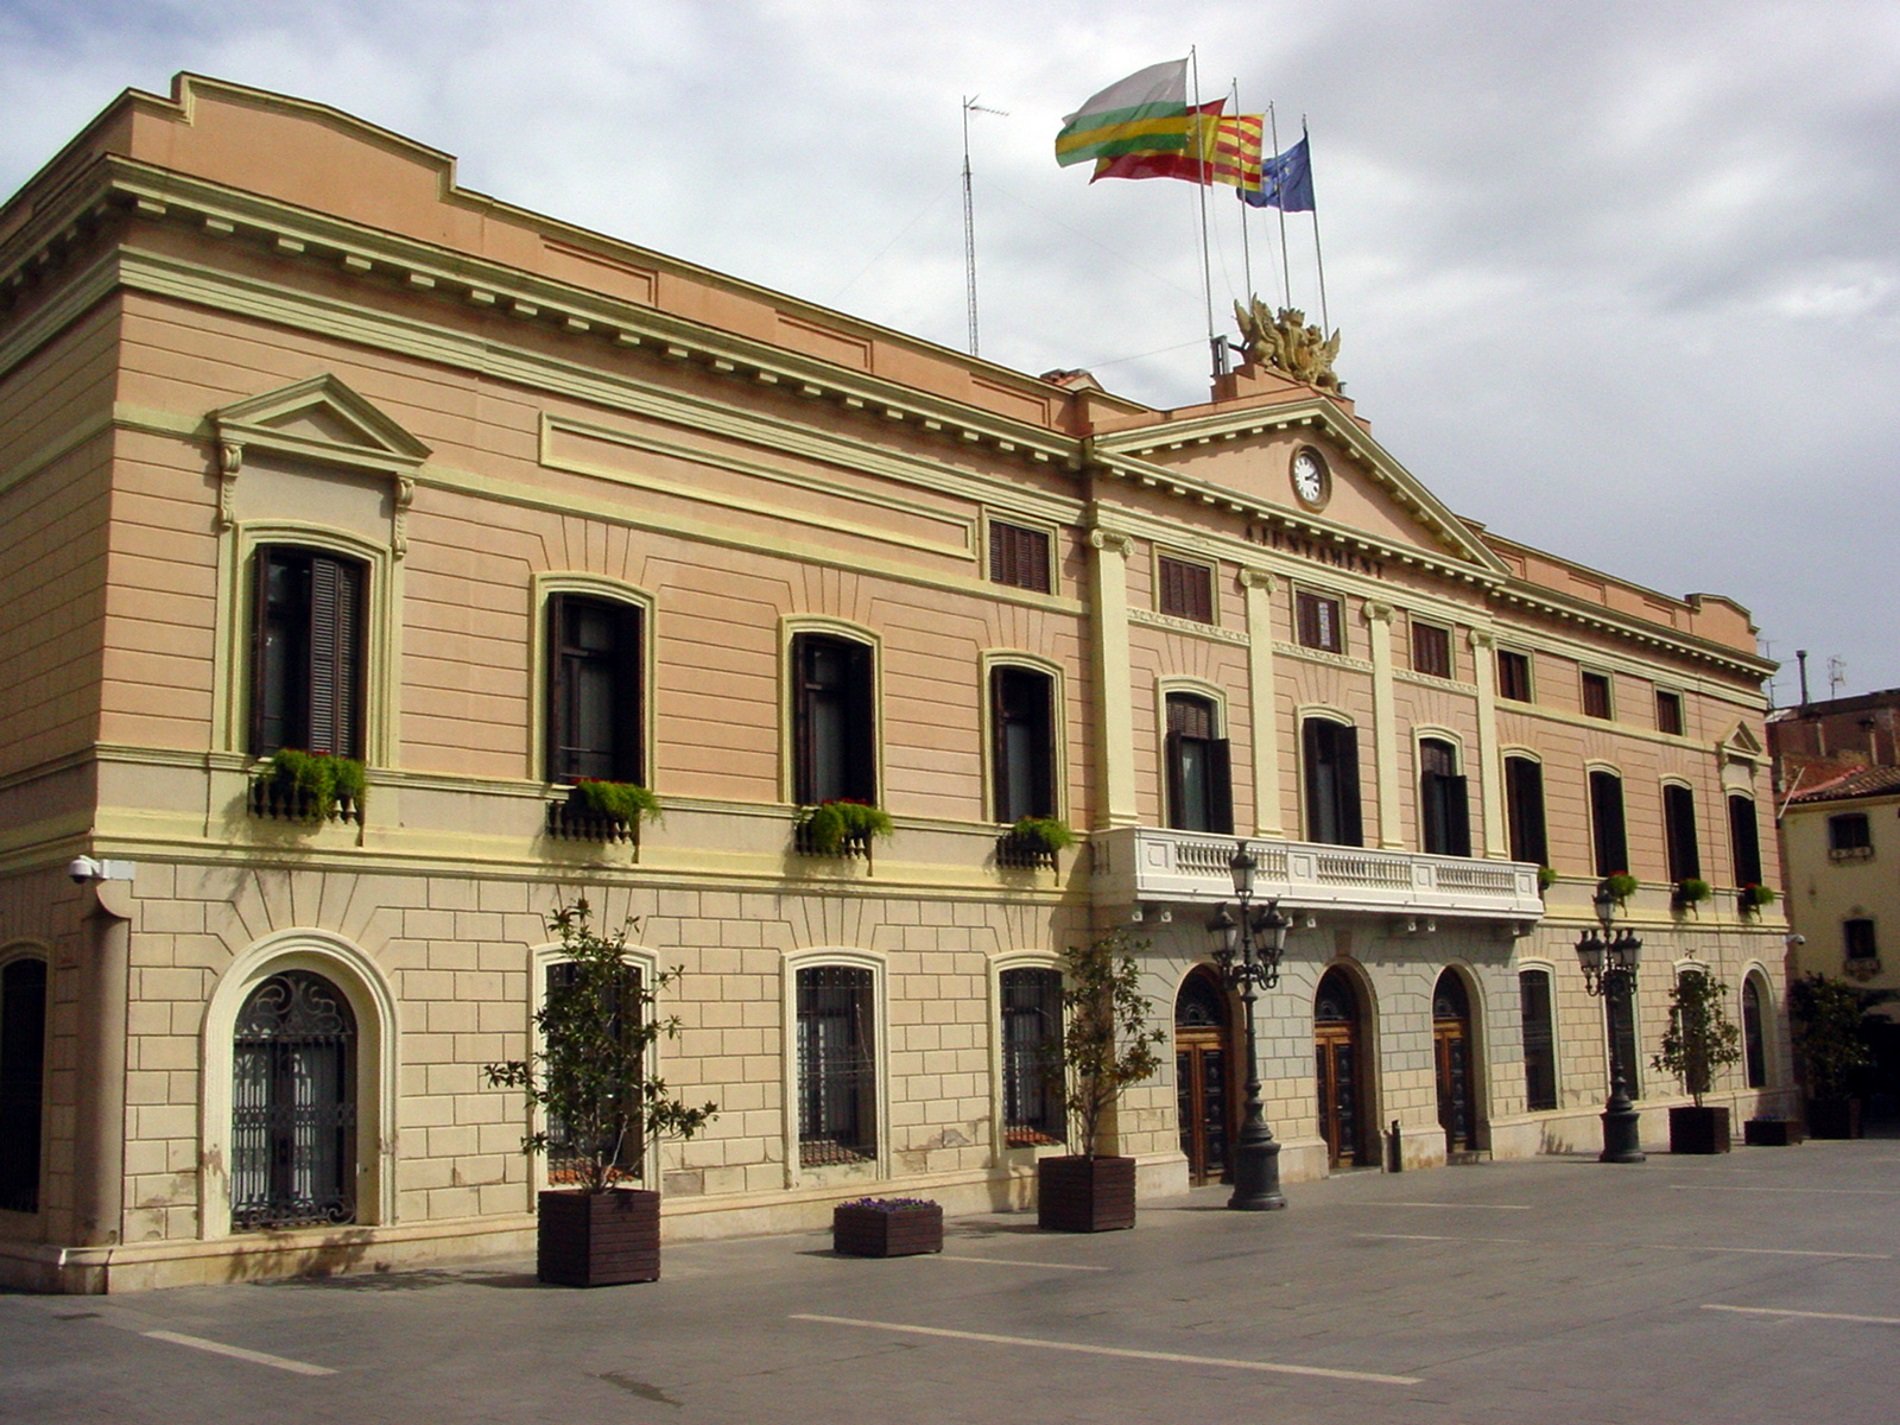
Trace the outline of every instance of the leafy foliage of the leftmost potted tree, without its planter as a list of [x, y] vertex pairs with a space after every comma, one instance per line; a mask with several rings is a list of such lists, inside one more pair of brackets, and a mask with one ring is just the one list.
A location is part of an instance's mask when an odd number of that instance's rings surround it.
[[[486, 1064], [492, 1089], [521, 1089], [528, 1108], [560, 1125], [562, 1165], [581, 1191], [602, 1193], [623, 1172], [623, 1148], [665, 1138], [692, 1138], [718, 1115], [718, 1104], [686, 1106], [652, 1074], [652, 1051], [680, 1032], [676, 1015], [661, 1018], [659, 994], [680, 978], [680, 967], [652, 980], [627, 963], [627, 935], [595, 929], [585, 897], [555, 906], [547, 929], [560, 940], [570, 971], [553, 978], [534, 1013], [540, 1047], [528, 1058]], [[526, 1153], [549, 1150], [543, 1127], [521, 1140]]]

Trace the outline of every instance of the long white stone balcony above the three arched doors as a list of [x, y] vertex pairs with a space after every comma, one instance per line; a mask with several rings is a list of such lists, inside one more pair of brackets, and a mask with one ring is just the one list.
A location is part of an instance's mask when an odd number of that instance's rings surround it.
[[[1227, 861], [1237, 836], [1121, 826], [1094, 832], [1094, 891], [1108, 904], [1233, 899]], [[1300, 910], [1355, 910], [1455, 920], [1543, 918], [1537, 866], [1358, 846], [1246, 838], [1260, 863], [1256, 895]]]

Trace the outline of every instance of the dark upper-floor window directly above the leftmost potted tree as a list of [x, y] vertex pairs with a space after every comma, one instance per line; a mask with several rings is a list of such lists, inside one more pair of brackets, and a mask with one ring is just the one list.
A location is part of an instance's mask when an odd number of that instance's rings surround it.
[[640, 608], [547, 600], [547, 781], [646, 781]]

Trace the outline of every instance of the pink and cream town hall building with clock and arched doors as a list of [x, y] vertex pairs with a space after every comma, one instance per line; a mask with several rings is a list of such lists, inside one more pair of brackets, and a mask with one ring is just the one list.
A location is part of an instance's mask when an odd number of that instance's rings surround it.
[[1493, 536], [1264, 361], [1148, 408], [180, 76], [0, 209], [0, 528], [10, 1282], [522, 1250], [549, 1167], [483, 1066], [578, 897], [682, 967], [657, 1070], [722, 1112], [629, 1165], [674, 1237], [1028, 1201], [1110, 931], [1170, 1034], [1113, 1146], [1218, 1178], [1239, 842], [1290, 1182], [1594, 1151], [1611, 1045], [1659, 1138], [1683, 967], [1761, 1045], [1718, 1102], [1790, 1091], [1746, 612]]

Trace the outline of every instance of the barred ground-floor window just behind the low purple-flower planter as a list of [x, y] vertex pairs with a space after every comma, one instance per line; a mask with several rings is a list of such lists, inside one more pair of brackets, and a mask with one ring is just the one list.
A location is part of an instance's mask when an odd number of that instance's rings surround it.
[[798, 971], [798, 1163], [878, 1155], [878, 1062], [868, 969]]

